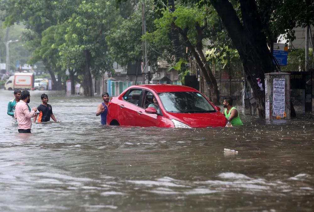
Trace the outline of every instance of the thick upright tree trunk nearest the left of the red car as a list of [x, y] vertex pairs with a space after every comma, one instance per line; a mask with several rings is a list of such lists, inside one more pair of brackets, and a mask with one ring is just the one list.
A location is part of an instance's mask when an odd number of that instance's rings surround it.
[[90, 63], [90, 52], [89, 50], [83, 51], [83, 56], [85, 57], [85, 63], [83, 67], [83, 88], [84, 96], [94, 96], [92, 74], [90, 73], [89, 63]]

